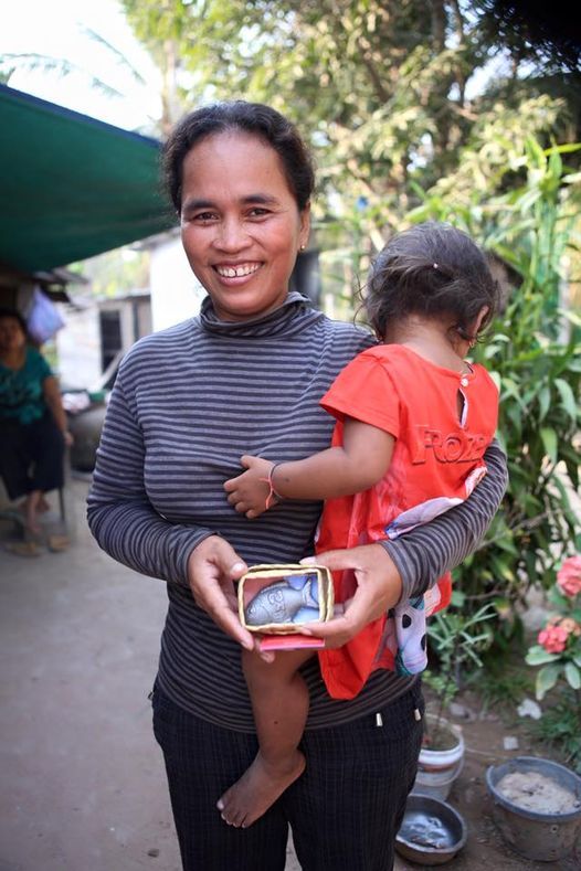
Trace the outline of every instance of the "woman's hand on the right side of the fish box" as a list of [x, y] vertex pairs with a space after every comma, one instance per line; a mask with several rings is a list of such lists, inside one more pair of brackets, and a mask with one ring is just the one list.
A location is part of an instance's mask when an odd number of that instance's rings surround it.
[[345, 605], [344, 614], [327, 623], [302, 626], [304, 635], [325, 639], [325, 647], [341, 647], [371, 620], [383, 616], [398, 604], [402, 581], [395, 564], [381, 544], [362, 544], [341, 551], [327, 551], [302, 560], [308, 565], [326, 565], [331, 571], [352, 569], [357, 581], [355, 596]]

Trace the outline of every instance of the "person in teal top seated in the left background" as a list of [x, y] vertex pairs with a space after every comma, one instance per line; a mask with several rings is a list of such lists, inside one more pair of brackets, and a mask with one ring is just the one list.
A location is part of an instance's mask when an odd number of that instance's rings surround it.
[[0, 309], [0, 476], [10, 499], [25, 496], [25, 525], [40, 532], [44, 493], [63, 486], [65, 444], [72, 443], [59, 383], [28, 344], [27, 323]]

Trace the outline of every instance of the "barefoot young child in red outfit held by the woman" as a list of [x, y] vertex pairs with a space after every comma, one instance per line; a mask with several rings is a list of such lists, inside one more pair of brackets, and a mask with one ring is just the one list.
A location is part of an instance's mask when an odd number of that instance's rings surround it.
[[[331, 447], [273, 463], [243, 456], [224, 484], [236, 511], [256, 518], [281, 499], [326, 499], [317, 551], [395, 538], [463, 501], [486, 474], [483, 455], [497, 425], [497, 389], [465, 361], [498, 305], [497, 284], [474, 242], [427, 222], [379, 254], [365, 295], [381, 344], [359, 354], [321, 400], [337, 418]], [[335, 573], [336, 602], [355, 593], [351, 572]], [[376, 668], [425, 668], [425, 616], [450, 602], [450, 576], [403, 602], [338, 650], [319, 652], [330, 695], [356, 695]], [[260, 751], [220, 799], [223, 818], [249, 826], [305, 767], [298, 743], [308, 691], [305, 651], [266, 663], [243, 652]]]

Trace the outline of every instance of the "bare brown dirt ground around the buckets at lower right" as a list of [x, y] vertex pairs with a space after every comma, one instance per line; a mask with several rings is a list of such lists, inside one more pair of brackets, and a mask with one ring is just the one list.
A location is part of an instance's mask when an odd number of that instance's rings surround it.
[[[430, 693], [426, 691], [426, 697]], [[532, 862], [515, 853], [504, 842], [493, 820], [493, 801], [486, 788], [486, 769], [515, 756], [543, 756], [551, 758], [542, 746], [536, 745], [528, 735], [527, 722], [517, 715], [500, 716], [495, 711], [483, 710], [474, 693], [465, 693], [456, 699], [469, 719], [451, 716], [462, 725], [466, 755], [464, 768], [454, 783], [447, 798], [464, 817], [468, 827], [465, 848], [451, 862], [450, 871], [581, 871], [581, 830], [574, 854], [558, 862]], [[515, 737], [518, 747], [507, 751], [505, 737]], [[398, 859], [397, 871], [412, 871], [420, 865]]]

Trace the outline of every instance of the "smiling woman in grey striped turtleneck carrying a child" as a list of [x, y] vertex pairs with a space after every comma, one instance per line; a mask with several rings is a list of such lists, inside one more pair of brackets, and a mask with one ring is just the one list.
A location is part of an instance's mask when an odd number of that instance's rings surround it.
[[[305, 773], [247, 829], [216, 809], [257, 751], [240, 662], [240, 646], [251, 650], [254, 639], [237, 619], [233, 582], [249, 565], [310, 554], [321, 508], [282, 502], [249, 521], [223, 482], [239, 474], [242, 454], [285, 460], [326, 447], [332, 418], [319, 399], [373, 339], [288, 290], [314, 177], [285, 118], [244, 102], [199, 109], [177, 126], [165, 161], [208, 298], [199, 317], [141, 340], [122, 364], [88, 519], [112, 556], [168, 582], [154, 727], [183, 868], [281, 870], [290, 824], [307, 871], [384, 871], [421, 744], [415, 678], [378, 671], [356, 699], [335, 701], [311, 659]], [[466, 506], [395, 542], [318, 557], [358, 581], [345, 615], [320, 631], [329, 647], [423, 593], [474, 548], [506, 485], [497, 447], [486, 463], [489, 475]]]

